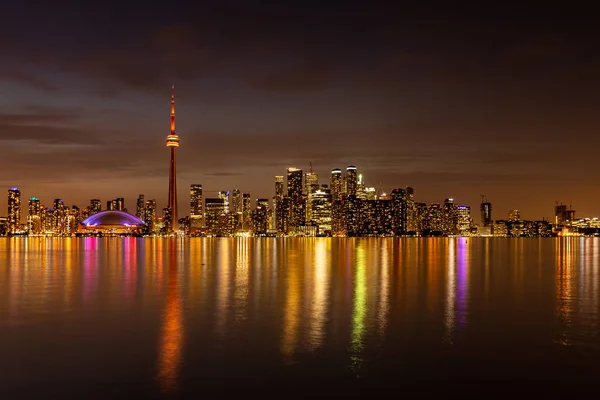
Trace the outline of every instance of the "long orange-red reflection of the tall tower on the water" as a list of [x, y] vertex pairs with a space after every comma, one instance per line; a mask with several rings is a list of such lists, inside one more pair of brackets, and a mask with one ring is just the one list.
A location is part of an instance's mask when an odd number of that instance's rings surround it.
[[[173, 393], [178, 389], [179, 368], [183, 347], [183, 315], [179, 292], [179, 271], [174, 239], [169, 241], [167, 265], [167, 293], [160, 333], [158, 382], [163, 392]], [[162, 264], [163, 257], [158, 259]], [[162, 267], [162, 265], [161, 265]], [[161, 268], [162, 269], [162, 268]]]

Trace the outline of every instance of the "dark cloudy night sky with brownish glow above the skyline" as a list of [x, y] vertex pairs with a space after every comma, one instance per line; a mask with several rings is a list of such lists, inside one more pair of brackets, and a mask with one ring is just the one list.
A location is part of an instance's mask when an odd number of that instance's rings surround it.
[[600, 216], [600, 36], [575, 3], [60, 3], [2, 6], [0, 215], [11, 186], [164, 207], [174, 84], [180, 215], [191, 183], [271, 198], [312, 161], [476, 220], [480, 194], [495, 219]]

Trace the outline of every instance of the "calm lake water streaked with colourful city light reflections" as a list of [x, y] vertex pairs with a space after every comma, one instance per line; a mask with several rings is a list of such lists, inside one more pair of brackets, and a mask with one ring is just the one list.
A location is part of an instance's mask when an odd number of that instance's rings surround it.
[[2, 399], [599, 380], [600, 239], [0, 238]]

